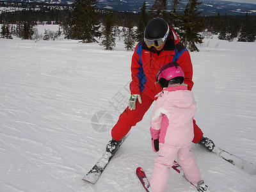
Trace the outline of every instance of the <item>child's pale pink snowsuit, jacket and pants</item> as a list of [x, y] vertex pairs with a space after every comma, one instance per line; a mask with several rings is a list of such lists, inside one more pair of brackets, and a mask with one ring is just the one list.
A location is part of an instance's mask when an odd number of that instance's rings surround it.
[[166, 189], [170, 168], [178, 156], [180, 166], [190, 182], [201, 180], [195, 157], [190, 151], [193, 140], [193, 118], [196, 102], [186, 85], [170, 86], [156, 95], [150, 132], [154, 140], [159, 138], [159, 156], [154, 162], [150, 186], [152, 191]]

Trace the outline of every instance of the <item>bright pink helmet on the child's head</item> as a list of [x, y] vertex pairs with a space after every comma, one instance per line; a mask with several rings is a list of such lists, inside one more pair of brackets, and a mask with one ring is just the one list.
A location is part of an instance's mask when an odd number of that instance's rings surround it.
[[[182, 71], [179, 63], [173, 61], [163, 65], [163, 67], [160, 68], [159, 72], [156, 75], [156, 82], [158, 82], [162, 87], [166, 87], [168, 81], [176, 77], [181, 77], [182, 81], [185, 78], [184, 72]], [[160, 79], [163, 81], [161, 81]]]

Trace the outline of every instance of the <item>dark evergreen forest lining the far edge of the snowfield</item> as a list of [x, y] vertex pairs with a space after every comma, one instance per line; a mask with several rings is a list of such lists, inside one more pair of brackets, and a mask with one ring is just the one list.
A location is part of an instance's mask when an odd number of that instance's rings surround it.
[[[202, 2], [188, 0], [180, 10], [179, 0], [172, 0], [172, 10], [167, 9], [167, 0], [155, 0], [152, 7], [141, 4], [140, 12], [116, 12], [97, 9], [96, 0], [76, 0], [70, 6], [44, 3], [15, 3], [1, 1], [1, 7], [13, 6], [14, 11], [0, 14], [1, 38], [54, 40], [58, 35], [79, 40], [82, 43], [99, 42], [105, 49], [115, 47], [115, 39], [124, 38], [125, 49], [132, 50], [136, 42], [143, 38], [147, 22], [154, 17], [163, 17], [178, 33], [183, 44], [190, 51], [199, 51], [196, 44], [205, 36], [218, 35], [221, 40], [255, 42], [256, 16], [241, 15], [204, 16], [198, 10]], [[179, 7], [179, 8], [178, 8]], [[34, 26], [38, 24], [58, 24], [55, 33], [45, 31], [40, 36]]]

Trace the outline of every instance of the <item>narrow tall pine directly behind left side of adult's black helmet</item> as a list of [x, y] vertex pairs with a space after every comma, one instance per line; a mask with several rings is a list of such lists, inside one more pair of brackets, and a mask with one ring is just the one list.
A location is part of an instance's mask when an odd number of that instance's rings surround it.
[[142, 7], [140, 8], [140, 19], [138, 21], [138, 27], [136, 29], [136, 40], [139, 42], [144, 38], [144, 30], [148, 23], [148, 14], [146, 11], [146, 2], [144, 1]]

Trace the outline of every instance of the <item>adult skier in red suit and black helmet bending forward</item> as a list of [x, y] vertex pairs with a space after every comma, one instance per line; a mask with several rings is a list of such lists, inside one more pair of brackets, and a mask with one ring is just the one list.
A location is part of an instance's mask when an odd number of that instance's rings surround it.
[[[131, 97], [124, 112], [119, 116], [118, 122], [111, 130], [112, 140], [106, 146], [107, 151], [115, 153], [120, 140], [140, 122], [150, 108], [155, 96], [163, 88], [156, 84], [156, 75], [166, 63], [177, 61], [184, 72], [184, 83], [188, 90], [193, 87], [193, 67], [188, 49], [180, 42], [180, 38], [168, 23], [162, 18], [150, 20], [145, 28], [144, 39], [134, 50], [131, 61], [130, 83]], [[193, 143], [200, 143], [208, 150], [212, 150], [214, 143], [203, 136], [203, 132], [193, 120]]]

